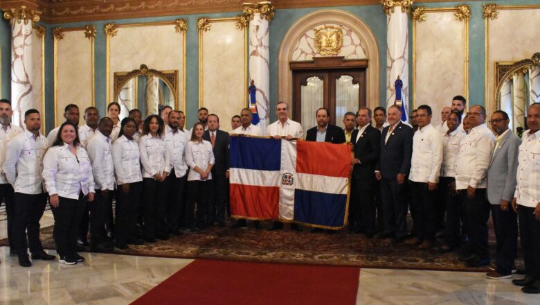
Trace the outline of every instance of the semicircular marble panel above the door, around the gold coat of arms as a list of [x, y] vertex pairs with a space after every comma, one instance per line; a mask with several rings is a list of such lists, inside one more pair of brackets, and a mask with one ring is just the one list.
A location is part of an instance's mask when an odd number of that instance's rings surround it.
[[[316, 36], [321, 35], [321, 30], [325, 28], [330, 28], [335, 30], [334, 36], [337, 36], [337, 40], [341, 42], [339, 53], [337, 54], [321, 54], [315, 43]], [[366, 45], [357, 33], [354, 33], [352, 29], [343, 24], [320, 24], [314, 26], [314, 28], [307, 30], [306, 33], [300, 37], [300, 40], [294, 46], [291, 60], [303, 61], [303, 60], [313, 60], [316, 56], [330, 55], [330, 56], [343, 56], [345, 60], [357, 60], [366, 58]]]

